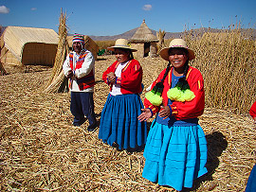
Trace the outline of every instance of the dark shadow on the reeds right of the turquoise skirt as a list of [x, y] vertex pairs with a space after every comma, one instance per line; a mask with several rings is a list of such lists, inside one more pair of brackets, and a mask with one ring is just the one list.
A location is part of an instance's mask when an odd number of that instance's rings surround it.
[[[214, 131], [206, 135], [206, 140], [208, 144], [208, 160], [206, 164], [208, 173], [194, 181], [192, 190], [197, 189], [202, 182], [213, 181], [212, 175], [219, 166], [218, 157], [221, 156], [222, 152], [228, 147], [228, 141], [223, 133], [219, 131]], [[213, 184], [210, 187], [215, 186], [216, 185]]]

